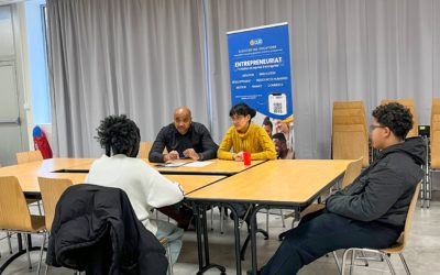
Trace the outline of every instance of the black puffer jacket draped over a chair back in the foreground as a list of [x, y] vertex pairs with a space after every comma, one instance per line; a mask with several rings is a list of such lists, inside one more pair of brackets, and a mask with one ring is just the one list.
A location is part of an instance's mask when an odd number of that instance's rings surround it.
[[125, 193], [69, 187], [56, 205], [46, 263], [87, 274], [166, 274], [165, 250], [138, 220]]

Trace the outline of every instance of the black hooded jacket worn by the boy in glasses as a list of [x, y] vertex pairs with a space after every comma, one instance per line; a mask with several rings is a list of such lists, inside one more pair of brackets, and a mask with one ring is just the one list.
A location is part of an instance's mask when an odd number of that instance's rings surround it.
[[420, 138], [388, 146], [353, 184], [327, 199], [327, 210], [360, 221], [403, 227], [416, 185], [424, 177]]

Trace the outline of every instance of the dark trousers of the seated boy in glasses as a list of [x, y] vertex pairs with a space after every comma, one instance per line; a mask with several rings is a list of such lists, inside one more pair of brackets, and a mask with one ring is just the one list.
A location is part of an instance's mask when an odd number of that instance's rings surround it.
[[287, 232], [261, 274], [296, 274], [304, 265], [340, 249], [384, 249], [393, 244], [402, 231], [403, 227], [356, 221], [323, 209], [307, 215], [297, 228]]

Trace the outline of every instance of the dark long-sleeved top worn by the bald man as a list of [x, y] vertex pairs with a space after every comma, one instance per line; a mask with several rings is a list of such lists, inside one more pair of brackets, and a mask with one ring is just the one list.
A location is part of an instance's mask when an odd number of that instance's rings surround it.
[[164, 127], [158, 132], [156, 140], [150, 150], [148, 161], [152, 163], [164, 162], [164, 148], [168, 152], [177, 151], [184, 158], [184, 151], [194, 148], [199, 154], [200, 161], [211, 160], [217, 157], [219, 146], [212, 141], [208, 129], [198, 122], [191, 122], [186, 134], [180, 134], [174, 123]]

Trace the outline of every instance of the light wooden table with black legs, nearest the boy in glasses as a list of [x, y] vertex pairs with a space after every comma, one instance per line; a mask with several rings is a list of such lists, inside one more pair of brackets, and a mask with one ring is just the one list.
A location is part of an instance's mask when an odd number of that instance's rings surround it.
[[[328, 190], [345, 172], [346, 165], [352, 162], [342, 160], [283, 160], [263, 163], [257, 168], [248, 169], [237, 175], [230, 176], [215, 185], [207, 186], [186, 196], [187, 200], [195, 206], [204, 204], [223, 202], [230, 206], [231, 202], [253, 204], [251, 213], [251, 249], [252, 249], [252, 270], [256, 271], [256, 212], [262, 208], [294, 208], [299, 215], [300, 209], [306, 208], [324, 190]], [[231, 209], [232, 210], [232, 209]], [[202, 215], [202, 211], [201, 211]], [[206, 223], [202, 216], [200, 223]], [[235, 228], [238, 226], [238, 220]], [[207, 244], [206, 226], [197, 227], [199, 253], [199, 273], [212, 266], [209, 263], [209, 245]], [[201, 237], [204, 241], [201, 241]], [[241, 274], [240, 262], [240, 232], [235, 229], [235, 257], [237, 274]], [[204, 248], [205, 246], [205, 248]], [[215, 265], [216, 266], [216, 265]]]

